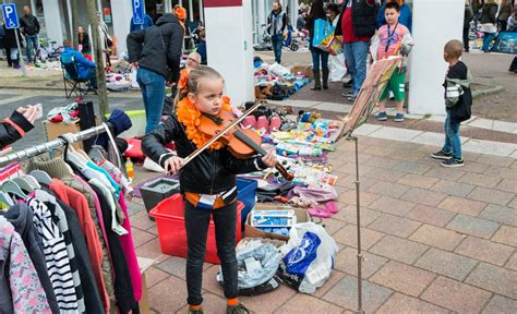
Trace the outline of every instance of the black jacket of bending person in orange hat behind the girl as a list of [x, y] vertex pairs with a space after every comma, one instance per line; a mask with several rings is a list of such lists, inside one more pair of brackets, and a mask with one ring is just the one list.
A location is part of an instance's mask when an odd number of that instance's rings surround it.
[[180, 77], [180, 58], [184, 29], [178, 17], [165, 14], [156, 25], [128, 35], [129, 61], [156, 72], [168, 81]]

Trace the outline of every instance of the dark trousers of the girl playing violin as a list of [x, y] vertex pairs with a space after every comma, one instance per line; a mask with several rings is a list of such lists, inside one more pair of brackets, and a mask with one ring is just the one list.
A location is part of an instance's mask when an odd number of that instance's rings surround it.
[[187, 229], [187, 290], [189, 305], [200, 305], [203, 302], [201, 286], [203, 279], [203, 262], [206, 252], [206, 235], [211, 216], [214, 217], [217, 256], [223, 268], [225, 280], [225, 297], [237, 298], [239, 294], [237, 282], [236, 257], [236, 219], [237, 202], [217, 209], [201, 209], [185, 202]]

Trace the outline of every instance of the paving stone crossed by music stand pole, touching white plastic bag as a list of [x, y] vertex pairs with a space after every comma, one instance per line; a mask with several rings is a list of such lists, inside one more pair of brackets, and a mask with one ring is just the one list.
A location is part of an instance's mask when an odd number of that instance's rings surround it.
[[[358, 276], [357, 253], [358, 251], [354, 247], [346, 247], [345, 250], [340, 251], [336, 256], [336, 263], [334, 263], [334, 267], [337, 270], [344, 271], [346, 274]], [[386, 258], [368, 253], [366, 251], [362, 251], [362, 255], [364, 261], [361, 263], [361, 271], [364, 279], [370, 278], [387, 262]]]

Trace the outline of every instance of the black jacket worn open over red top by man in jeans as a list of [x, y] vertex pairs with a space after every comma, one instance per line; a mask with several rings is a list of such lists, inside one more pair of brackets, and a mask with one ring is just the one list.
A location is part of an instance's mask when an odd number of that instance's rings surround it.
[[[347, 8], [348, 1], [353, 1], [351, 8]], [[373, 0], [346, 0], [341, 4], [342, 11], [339, 14], [335, 35], [342, 35], [342, 14], [347, 9], [352, 10], [352, 27], [356, 37], [372, 37], [375, 34], [375, 19], [377, 16], [377, 5]]]

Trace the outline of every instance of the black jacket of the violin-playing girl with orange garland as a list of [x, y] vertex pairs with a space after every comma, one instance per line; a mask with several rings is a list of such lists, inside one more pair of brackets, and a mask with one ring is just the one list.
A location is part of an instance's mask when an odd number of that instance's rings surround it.
[[[167, 157], [172, 156], [165, 145], [172, 141], [181, 158], [185, 158], [196, 148], [187, 138], [183, 124], [177, 120], [176, 116], [171, 116], [155, 131], [145, 135], [142, 141], [142, 150], [164, 167]], [[160, 160], [160, 156], [165, 158]], [[217, 150], [206, 149], [180, 170], [181, 190], [200, 194], [218, 194], [229, 191], [236, 185], [236, 174], [258, 170], [255, 162], [260, 169], [267, 168], [260, 157], [238, 159], [226, 147]]]

